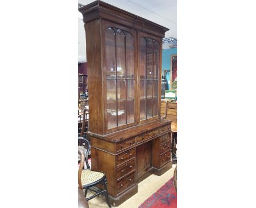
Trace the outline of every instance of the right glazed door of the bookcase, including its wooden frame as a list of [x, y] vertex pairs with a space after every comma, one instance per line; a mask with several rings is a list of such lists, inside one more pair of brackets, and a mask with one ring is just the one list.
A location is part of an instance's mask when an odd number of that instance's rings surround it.
[[138, 33], [139, 121], [160, 118], [161, 39]]

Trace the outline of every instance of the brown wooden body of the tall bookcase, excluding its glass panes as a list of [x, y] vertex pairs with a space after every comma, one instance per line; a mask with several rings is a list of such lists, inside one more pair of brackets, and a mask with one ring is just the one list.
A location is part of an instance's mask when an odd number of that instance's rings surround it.
[[[80, 8], [79, 11], [83, 14], [86, 31], [88, 90], [90, 92], [88, 136], [91, 140], [91, 168], [106, 174], [110, 201], [114, 206], [118, 206], [137, 192], [139, 181], [152, 173], [161, 175], [172, 166], [169, 156], [171, 121], [161, 119], [162, 38], [168, 29], [101, 1], [92, 2]], [[124, 33], [130, 33], [133, 36], [135, 82], [134, 122], [118, 125], [117, 119], [117, 126], [113, 128], [108, 126], [110, 113], [107, 111], [110, 108], [107, 106], [109, 100], [107, 100], [106, 78], [109, 65], [106, 59], [105, 33], [106, 28], [109, 27], [114, 28], [113, 30], [121, 29]], [[156, 79], [159, 83], [158, 92], [156, 91], [158, 99], [154, 100], [154, 109], [158, 109], [158, 113], [145, 120], [140, 120], [139, 103], [141, 99], [139, 60], [141, 38], [150, 38], [159, 44], [159, 63], [155, 63], [159, 66], [158, 79]], [[113, 56], [116, 61], [115, 66], [112, 65], [110, 69], [115, 68], [117, 75], [117, 47], [119, 46], [116, 41], [114, 45]], [[126, 62], [125, 58], [125, 69]], [[115, 78], [115, 80], [118, 79]], [[127, 89], [120, 90], [119, 93], [120, 96], [126, 96], [127, 107], [129, 105]], [[115, 95], [117, 98], [117, 91]], [[112, 100], [113, 98], [110, 102]], [[102, 187], [98, 186], [98, 188]]]

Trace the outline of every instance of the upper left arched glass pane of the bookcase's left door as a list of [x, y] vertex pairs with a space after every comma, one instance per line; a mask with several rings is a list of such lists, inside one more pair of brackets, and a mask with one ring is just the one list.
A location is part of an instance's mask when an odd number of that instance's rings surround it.
[[115, 78], [115, 33], [111, 28], [106, 28], [106, 76]]

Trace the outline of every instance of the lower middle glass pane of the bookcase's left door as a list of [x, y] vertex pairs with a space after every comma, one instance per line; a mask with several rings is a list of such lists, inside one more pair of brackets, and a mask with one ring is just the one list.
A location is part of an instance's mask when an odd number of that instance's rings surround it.
[[126, 124], [126, 84], [125, 79], [118, 79], [118, 126]]

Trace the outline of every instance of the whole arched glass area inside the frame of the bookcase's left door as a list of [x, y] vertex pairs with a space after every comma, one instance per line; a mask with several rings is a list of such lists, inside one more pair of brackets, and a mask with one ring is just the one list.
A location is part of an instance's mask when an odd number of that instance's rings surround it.
[[113, 129], [135, 122], [134, 40], [118, 28], [107, 28], [105, 40], [107, 123]]

